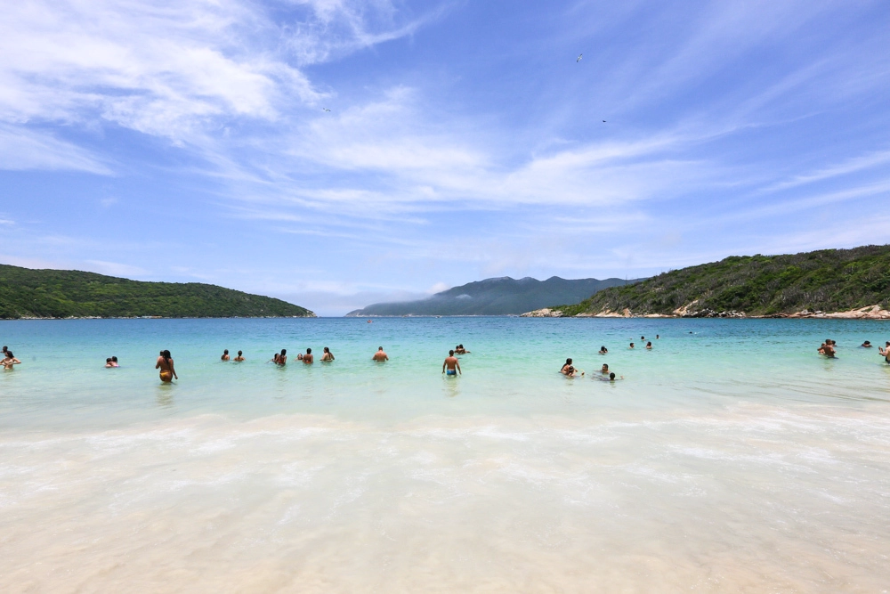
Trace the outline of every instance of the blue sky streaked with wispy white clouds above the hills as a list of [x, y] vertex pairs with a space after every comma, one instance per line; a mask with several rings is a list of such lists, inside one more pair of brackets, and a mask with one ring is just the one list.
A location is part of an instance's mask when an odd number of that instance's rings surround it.
[[888, 48], [885, 0], [12, 3], [0, 262], [336, 315], [883, 244]]

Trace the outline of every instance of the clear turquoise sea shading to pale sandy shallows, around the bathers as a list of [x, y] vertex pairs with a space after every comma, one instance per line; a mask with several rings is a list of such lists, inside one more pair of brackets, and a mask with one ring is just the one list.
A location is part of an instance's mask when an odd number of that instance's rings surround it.
[[[827, 337], [837, 360], [815, 354]], [[886, 591], [890, 366], [857, 346], [888, 338], [842, 320], [0, 322], [23, 362], [0, 373], [0, 590]], [[442, 378], [458, 342], [465, 375]], [[306, 346], [336, 362], [296, 362]], [[586, 377], [557, 373], [567, 356]], [[603, 362], [625, 379], [592, 378]]]

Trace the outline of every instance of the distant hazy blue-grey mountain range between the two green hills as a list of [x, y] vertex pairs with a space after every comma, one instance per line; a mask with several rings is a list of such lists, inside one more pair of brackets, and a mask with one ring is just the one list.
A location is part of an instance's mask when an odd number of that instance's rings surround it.
[[417, 301], [376, 303], [346, 315], [518, 315], [548, 305], [578, 303], [601, 289], [637, 281], [567, 280], [558, 276], [546, 281], [530, 277], [517, 281], [505, 276], [470, 282]]

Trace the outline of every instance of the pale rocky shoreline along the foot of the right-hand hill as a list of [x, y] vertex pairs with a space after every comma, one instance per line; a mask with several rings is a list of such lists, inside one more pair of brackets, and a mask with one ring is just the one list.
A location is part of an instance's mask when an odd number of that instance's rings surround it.
[[610, 309], [600, 313], [578, 313], [567, 316], [560, 309], [545, 307], [533, 312], [522, 313], [521, 318], [789, 318], [789, 319], [837, 319], [837, 320], [890, 320], [890, 311], [882, 309], [880, 305], [867, 305], [858, 309], [845, 312], [821, 312], [819, 310], [805, 309], [793, 313], [774, 313], [772, 315], [748, 315], [744, 312], [725, 311], [716, 312], [711, 309], [693, 309], [695, 302], [684, 307], [677, 308], [674, 313], [633, 313], [625, 308], [620, 312]]

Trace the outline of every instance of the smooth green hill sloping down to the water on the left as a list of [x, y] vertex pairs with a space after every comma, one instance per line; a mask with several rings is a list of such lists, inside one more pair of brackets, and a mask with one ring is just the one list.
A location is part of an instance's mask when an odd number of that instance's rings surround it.
[[287, 301], [200, 282], [142, 282], [0, 264], [0, 318], [314, 317]]

